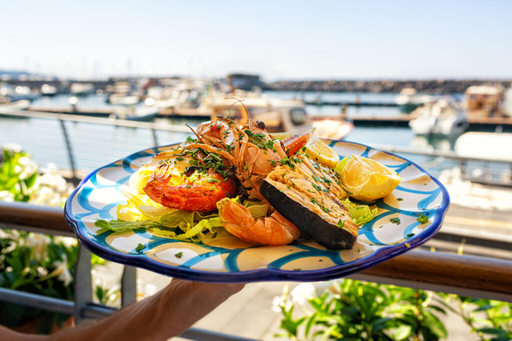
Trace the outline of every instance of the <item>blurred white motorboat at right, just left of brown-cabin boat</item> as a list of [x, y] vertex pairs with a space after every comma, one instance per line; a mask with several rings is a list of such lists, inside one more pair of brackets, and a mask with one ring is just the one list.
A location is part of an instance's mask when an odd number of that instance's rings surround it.
[[465, 132], [470, 124], [460, 103], [439, 99], [416, 108], [409, 126], [416, 135], [456, 137]]

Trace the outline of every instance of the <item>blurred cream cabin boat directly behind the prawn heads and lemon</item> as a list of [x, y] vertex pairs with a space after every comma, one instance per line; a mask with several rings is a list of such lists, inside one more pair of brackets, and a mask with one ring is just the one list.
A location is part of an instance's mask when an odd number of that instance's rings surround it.
[[[333, 140], [345, 138], [354, 128], [351, 123], [334, 117], [311, 119], [301, 100], [274, 99], [260, 96], [259, 93], [237, 91], [231, 95], [209, 96], [198, 107], [198, 113], [209, 112], [211, 120], [217, 120], [218, 115], [240, 119], [245, 106], [247, 116], [253, 121], [263, 121], [269, 133], [300, 134], [315, 128], [315, 136]], [[232, 96], [240, 101], [233, 100]]]

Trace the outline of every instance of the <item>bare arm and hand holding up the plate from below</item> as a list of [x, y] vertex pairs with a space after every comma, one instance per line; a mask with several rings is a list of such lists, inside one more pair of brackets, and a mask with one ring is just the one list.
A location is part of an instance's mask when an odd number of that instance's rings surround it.
[[54, 335], [20, 334], [0, 327], [0, 339], [166, 340], [180, 335], [214, 310], [243, 284], [211, 284], [174, 279], [162, 291], [105, 319], [62, 330]]

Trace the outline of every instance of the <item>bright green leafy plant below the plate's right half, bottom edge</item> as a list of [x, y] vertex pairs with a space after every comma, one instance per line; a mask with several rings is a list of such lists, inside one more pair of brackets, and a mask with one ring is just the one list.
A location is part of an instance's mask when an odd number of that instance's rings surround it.
[[[293, 292], [292, 292], [293, 295]], [[354, 280], [333, 282], [308, 297], [306, 315], [295, 319], [294, 304], [284, 294], [281, 328], [291, 339], [438, 340], [446, 329], [436, 313], [432, 293]], [[311, 310], [312, 309], [312, 310]]]

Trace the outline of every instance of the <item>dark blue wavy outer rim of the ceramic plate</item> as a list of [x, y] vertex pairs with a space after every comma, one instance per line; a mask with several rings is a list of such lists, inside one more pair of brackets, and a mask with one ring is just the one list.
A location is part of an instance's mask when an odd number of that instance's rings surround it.
[[[80, 191], [80, 189], [83, 187], [84, 184], [87, 183], [87, 181], [97, 172], [99, 172], [103, 168], [111, 167], [112, 165], [119, 163], [120, 161], [124, 161], [127, 158], [132, 158], [134, 155], [139, 154], [141, 152], [150, 150], [150, 149], [158, 149], [158, 148], [164, 148], [169, 146], [175, 146], [179, 143], [170, 144], [170, 145], [164, 145], [164, 146], [156, 146], [156, 147], [149, 147], [145, 149], [141, 149], [135, 153], [132, 153], [130, 155], [127, 155], [123, 158], [120, 158], [119, 160], [112, 162], [108, 165], [101, 166], [97, 168], [96, 170], [89, 173], [86, 177], [84, 177], [76, 189], [71, 193], [71, 195], [66, 200], [65, 206], [64, 206], [64, 217], [66, 222], [72, 227], [72, 229], [75, 232], [75, 235], [77, 239], [82, 243], [83, 246], [89, 249], [92, 253], [100, 256], [101, 258], [104, 258], [106, 260], [110, 260], [116, 263], [121, 263], [124, 265], [131, 265], [136, 267], [141, 267], [147, 270], [151, 270], [154, 272], [158, 272], [159, 274], [186, 279], [186, 280], [193, 280], [193, 281], [200, 281], [200, 282], [211, 282], [211, 283], [249, 283], [249, 282], [268, 282], [268, 281], [297, 281], [297, 282], [314, 282], [314, 281], [324, 281], [324, 280], [331, 280], [335, 278], [341, 278], [345, 277], [350, 274], [354, 274], [355, 272], [364, 270], [366, 268], [369, 268], [371, 266], [375, 266], [379, 263], [382, 263], [384, 261], [387, 261], [395, 256], [398, 256], [400, 254], [406, 253], [408, 251], [411, 251], [413, 248], [416, 248], [430, 239], [432, 239], [441, 229], [444, 217], [446, 215], [446, 212], [448, 211], [448, 208], [450, 207], [450, 195], [446, 188], [444, 187], [441, 182], [426, 172], [422, 167], [417, 165], [416, 163], [408, 160], [405, 157], [402, 157], [400, 155], [397, 155], [392, 152], [383, 151], [377, 148], [373, 148], [371, 146], [358, 143], [358, 142], [352, 142], [352, 141], [344, 141], [344, 140], [329, 140], [324, 139], [327, 141], [331, 141], [334, 143], [342, 142], [342, 143], [348, 143], [348, 144], [354, 144], [366, 147], [367, 150], [370, 152], [371, 150], [375, 150], [377, 152], [383, 152], [388, 155], [392, 155], [395, 157], [400, 158], [401, 160], [404, 160], [406, 162], [411, 163], [415, 167], [417, 167], [421, 172], [428, 175], [434, 183], [441, 189], [441, 194], [443, 195], [443, 198], [441, 200], [441, 203], [439, 204], [439, 207], [435, 208], [436, 213], [442, 212], [442, 214], [436, 214], [434, 216], [434, 220], [432, 223], [421, 233], [418, 235], [415, 235], [414, 237], [407, 239], [406, 241], [400, 242], [396, 245], [387, 245], [380, 247], [376, 249], [371, 254], [359, 258], [352, 262], [346, 262], [342, 264], [337, 264], [332, 267], [328, 268], [322, 268], [322, 269], [314, 269], [314, 270], [282, 270], [282, 269], [272, 269], [272, 268], [259, 268], [259, 269], [253, 269], [253, 270], [246, 270], [246, 271], [237, 271], [237, 272], [219, 272], [219, 271], [207, 271], [207, 270], [200, 270], [200, 269], [190, 269], [190, 268], [183, 268], [179, 266], [169, 265], [161, 262], [157, 262], [153, 260], [150, 257], [141, 257], [141, 255], [138, 254], [126, 254], [120, 251], [117, 251], [116, 249], [106, 249], [105, 246], [99, 244], [98, 242], [94, 241], [92, 238], [90, 238], [87, 234], [83, 234], [82, 228], [80, 228], [79, 224], [81, 221], [77, 221], [71, 212], [72, 207], [72, 201], [76, 194]], [[406, 246], [406, 243], [409, 244], [409, 246]]]

